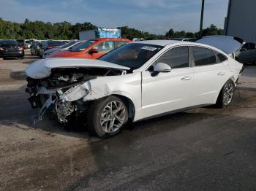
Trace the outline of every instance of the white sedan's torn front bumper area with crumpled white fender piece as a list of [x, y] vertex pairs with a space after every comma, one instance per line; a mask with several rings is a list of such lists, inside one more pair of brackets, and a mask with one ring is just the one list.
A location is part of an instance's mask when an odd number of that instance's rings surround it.
[[55, 115], [59, 122], [67, 122], [72, 114], [84, 112], [87, 109], [87, 102], [109, 95], [110, 90], [107, 85], [96, 85], [92, 90], [91, 82], [88, 81], [69, 87], [66, 91], [62, 88], [48, 89], [34, 86], [27, 87], [26, 92], [30, 94], [28, 100], [31, 108], [39, 108], [39, 112], [34, 117], [34, 124], [36, 124], [42, 120], [42, 116], [47, 111]]

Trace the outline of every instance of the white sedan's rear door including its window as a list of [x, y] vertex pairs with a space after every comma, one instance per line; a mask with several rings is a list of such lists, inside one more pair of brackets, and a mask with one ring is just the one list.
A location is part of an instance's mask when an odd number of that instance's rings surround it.
[[[215, 104], [228, 79], [227, 59], [220, 61], [218, 52], [206, 47], [189, 47], [194, 69], [193, 105]], [[224, 56], [224, 55], [223, 55]]]

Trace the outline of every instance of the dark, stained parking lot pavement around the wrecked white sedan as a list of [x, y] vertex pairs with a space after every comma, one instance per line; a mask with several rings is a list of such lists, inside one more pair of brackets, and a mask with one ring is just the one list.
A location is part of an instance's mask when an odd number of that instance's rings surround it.
[[233, 105], [127, 125], [110, 139], [33, 125], [24, 69], [37, 57], [0, 61], [0, 190], [256, 190], [256, 66]]

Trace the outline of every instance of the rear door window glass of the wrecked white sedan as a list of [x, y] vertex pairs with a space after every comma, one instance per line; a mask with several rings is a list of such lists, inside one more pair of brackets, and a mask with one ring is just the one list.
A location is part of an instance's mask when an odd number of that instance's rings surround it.
[[205, 66], [217, 63], [214, 52], [204, 47], [192, 47], [195, 66]]

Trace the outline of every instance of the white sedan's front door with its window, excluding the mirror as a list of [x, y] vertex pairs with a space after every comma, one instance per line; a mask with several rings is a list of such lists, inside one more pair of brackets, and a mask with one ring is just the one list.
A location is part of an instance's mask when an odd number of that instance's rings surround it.
[[157, 76], [152, 75], [154, 66], [148, 71], [143, 71], [142, 118], [192, 106], [194, 74], [189, 67], [188, 47], [167, 50], [156, 63], [166, 63], [172, 70], [160, 72]]

